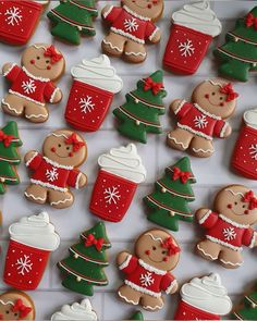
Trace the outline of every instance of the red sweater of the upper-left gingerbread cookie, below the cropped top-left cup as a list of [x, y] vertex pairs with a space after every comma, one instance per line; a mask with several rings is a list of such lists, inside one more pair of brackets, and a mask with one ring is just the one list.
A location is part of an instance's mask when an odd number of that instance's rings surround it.
[[57, 87], [48, 78], [32, 75], [24, 66], [13, 64], [3, 74], [11, 83], [10, 94], [23, 97], [27, 100], [45, 106], [46, 101], [52, 102]]

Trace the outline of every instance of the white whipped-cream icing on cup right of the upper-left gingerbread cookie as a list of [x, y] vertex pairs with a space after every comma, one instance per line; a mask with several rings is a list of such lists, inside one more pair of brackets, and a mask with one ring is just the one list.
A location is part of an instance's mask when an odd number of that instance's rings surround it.
[[111, 66], [110, 59], [106, 54], [91, 60], [83, 60], [81, 64], [72, 67], [72, 76], [82, 83], [86, 83], [101, 89], [118, 94], [123, 87], [122, 79]]

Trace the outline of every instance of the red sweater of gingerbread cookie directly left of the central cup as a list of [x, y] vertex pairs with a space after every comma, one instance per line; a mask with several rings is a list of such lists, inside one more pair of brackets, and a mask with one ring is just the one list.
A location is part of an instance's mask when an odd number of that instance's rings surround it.
[[38, 152], [26, 163], [26, 166], [35, 171], [30, 177], [33, 184], [60, 192], [66, 192], [68, 186], [78, 188], [81, 172], [73, 166], [60, 165]]

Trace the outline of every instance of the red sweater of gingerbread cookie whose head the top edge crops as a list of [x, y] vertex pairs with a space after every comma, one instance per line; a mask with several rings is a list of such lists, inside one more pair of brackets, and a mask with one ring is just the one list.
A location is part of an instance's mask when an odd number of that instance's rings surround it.
[[154, 25], [150, 18], [136, 14], [126, 5], [123, 8], [112, 5], [103, 16], [111, 23], [111, 30], [113, 33], [139, 44], [145, 44], [145, 40], [151, 40], [158, 30], [158, 27]]

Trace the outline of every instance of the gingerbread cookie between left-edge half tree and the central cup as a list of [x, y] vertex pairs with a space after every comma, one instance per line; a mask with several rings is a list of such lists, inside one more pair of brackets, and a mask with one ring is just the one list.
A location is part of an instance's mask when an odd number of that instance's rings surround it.
[[58, 209], [72, 206], [74, 196], [69, 187], [78, 189], [87, 183], [77, 169], [86, 157], [86, 143], [76, 133], [62, 129], [49, 134], [42, 153], [32, 150], [25, 155], [26, 166], [34, 172], [25, 197], [37, 203], [48, 201]]

